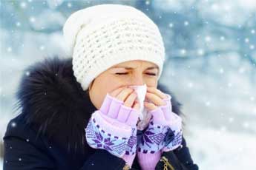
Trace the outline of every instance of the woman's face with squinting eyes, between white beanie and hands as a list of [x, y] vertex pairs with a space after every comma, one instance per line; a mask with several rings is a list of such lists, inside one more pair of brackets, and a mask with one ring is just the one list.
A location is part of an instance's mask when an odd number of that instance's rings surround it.
[[89, 90], [91, 101], [99, 109], [105, 95], [120, 86], [146, 84], [157, 87], [158, 74], [157, 65], [148, 61], [134, 60], [116, 64], [94, 79]]

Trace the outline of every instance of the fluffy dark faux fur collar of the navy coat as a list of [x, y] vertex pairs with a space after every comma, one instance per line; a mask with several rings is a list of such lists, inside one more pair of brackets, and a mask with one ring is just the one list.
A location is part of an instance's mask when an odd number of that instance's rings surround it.
[[[180, 115], [181, 104], [174, 94], [158, 84], [158, 89], [172, 96], [173, 112]], [[27, 67], [16, 92], [17, 109], [27, 124], [70, 149], [86, 151], [85, 127], [96, 110], [88, 92], [82, 90], [73, 75], [72, 58], [47, 58]]]

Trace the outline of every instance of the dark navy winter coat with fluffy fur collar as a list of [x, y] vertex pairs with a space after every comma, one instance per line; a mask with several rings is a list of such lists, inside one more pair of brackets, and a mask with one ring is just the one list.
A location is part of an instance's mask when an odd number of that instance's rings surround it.
[[[163, 85], [157, 88], [171, 94], [173, 112], [180, 115], [181, 104], [174, 95]], [[121, 158], [88, 146], [85, 127], [96, 107], [76, 81], [71, 58], [48, 58], [28, 67], [16, 96], [20, 114], [10, 120], [3, 137], [4, 170], [117, 170], [125, 166]], [[198, 169], [184, 138], [183, 147], [166, 152], [165, 157], [175, 169]], [[161, 163], [157, 169], [162, 169]], [[132, 168], [140, 169], [137, 157]]]

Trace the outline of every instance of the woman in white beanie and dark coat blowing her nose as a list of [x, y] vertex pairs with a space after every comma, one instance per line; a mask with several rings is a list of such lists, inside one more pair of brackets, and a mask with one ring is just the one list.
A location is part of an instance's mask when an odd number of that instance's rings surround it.
[[[73, 13], [63, 31], [72, 58], [39, 62], [22, 78], [4, 169], [198, 169], [180, 103], [158, 84], [165, 52], [154, 22], [101, 4]], [[134, 86], [143, 84], [142, 106]]]

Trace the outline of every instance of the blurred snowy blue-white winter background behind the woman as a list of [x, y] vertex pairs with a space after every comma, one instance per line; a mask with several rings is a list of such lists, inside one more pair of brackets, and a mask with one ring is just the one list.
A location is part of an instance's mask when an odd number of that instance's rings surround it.
[[1, 0], [0, 169], [14, 93], [24, 68], [65, 55], [62, 26], [94, 4], [128, 4], [160, 27], [160, 83], [183, 103], [185, 137], [200, 169], [256, 169], [256, 1]]

